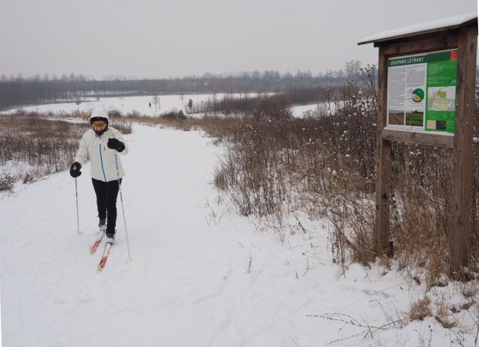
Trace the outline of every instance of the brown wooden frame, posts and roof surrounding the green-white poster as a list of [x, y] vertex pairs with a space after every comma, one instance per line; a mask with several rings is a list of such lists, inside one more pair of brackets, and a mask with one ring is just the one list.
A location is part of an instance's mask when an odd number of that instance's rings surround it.
[[[376, 144], [376, 224], [374, 231], [376, 254], [390, 254], [390, 191], [391, 142], [426, 144], [452, 148], [454, 176], [450, 235], [452, 238], [451, 274], [462, 273], [467, 265], [468, 240], [471, 236], [471, 184], [473, 112], [478, 21], [469, 20], [455, 27], [430, 29], [393, 39], [365, 41], [379, 47], [379, 110]], [[362, 44], [359, 43], [359, 44]], [[441, 50], [458, 50], [456, 83], [456, 124], [454, 136], [435, 133], [385, 129], [387, 122], [388, 59]]]

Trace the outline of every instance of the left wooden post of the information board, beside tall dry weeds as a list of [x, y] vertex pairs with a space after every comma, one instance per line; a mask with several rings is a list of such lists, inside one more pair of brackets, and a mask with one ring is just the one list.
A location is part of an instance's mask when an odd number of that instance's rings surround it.
[[386, 126], [386, 104], [388, 83], [388, 57], [384, 48], [379, 48], [378, 62], [379, 102], [376, 132], [376, 226], [374, 229], [374, 251], [386, 254], [389, 245], [389, 205], [391, 186], [391, 141], [383, 140], [382, 130]]

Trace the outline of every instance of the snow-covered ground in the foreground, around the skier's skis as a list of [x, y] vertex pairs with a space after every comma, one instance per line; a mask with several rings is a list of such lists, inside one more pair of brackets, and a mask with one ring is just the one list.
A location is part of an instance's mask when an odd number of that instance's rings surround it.
[[[78, 179], [81, 236], [69, 172], [0, 195], [4, 347], [451, 346], [459, 338], [474, 346], [477, 318], [468, 311], [455, 315], [461, 331], [431, 317], [408, 322], [424, 285], [407, 283], [395, 266], [343, 273], [326, 222], [298, 215], [306, 233], [291, 220], [281, 243], [237, 215], [211, 184], [222, 149], [202, 132], [135, 125], [125, 138], [130, 262], [120, 201], [103, 271], [103, 245], [88, 252], [97, 224], [88, 165]], [[453, 285], [428, 296], [466, 300]], [[328, 313], [345, 316], [317, 317]], [[346, 324], [354, 320], [361, 326]]]

